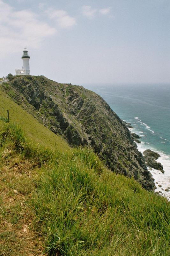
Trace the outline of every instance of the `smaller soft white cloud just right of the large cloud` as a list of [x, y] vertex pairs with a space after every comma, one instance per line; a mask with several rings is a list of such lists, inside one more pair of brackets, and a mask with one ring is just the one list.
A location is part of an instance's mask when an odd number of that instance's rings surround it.
[[61, 28], [70, 28], [76, 25], [76, 19], [69, 16], [66, 11], [48, 8], [45, 13], [50, 19], [55, 20]]

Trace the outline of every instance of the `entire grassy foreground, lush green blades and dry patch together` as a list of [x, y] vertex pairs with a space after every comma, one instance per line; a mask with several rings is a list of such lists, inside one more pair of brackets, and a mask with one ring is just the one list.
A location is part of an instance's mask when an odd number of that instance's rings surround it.
[[167, 199], [110, 172], [91, 149], [52, 152], [3, 124], [0, 158], [1, 255], [170, 254]]

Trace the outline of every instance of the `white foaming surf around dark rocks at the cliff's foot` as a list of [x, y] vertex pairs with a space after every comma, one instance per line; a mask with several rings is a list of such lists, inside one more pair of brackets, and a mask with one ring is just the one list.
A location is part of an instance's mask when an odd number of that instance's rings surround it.
[[[138, 150], [143, 154], [144, 150], [146, 149], [151, 149], [155, 152], [158, 152], [160, 157], [158, 158], [158, 162], [163, 165], [165, 173], [162, 173], [158, 170], [151, 169], [152, 176], [155, 180], [155, 192], [156, 191], [161, 191], [161, 195], [166, 196], [167, 199], [170, 201], [170, 191], [165, 191], [166, 188], [170, 188], [170, 156], [164, 154], [161, 151], [156, 150], [155, 148], [151, 148], [148, 145], [146, 145], [144, 142], [142, 143], [137, 143], [137, 148]], [[158, 182], [158, 184], [156, 184]], [[162, 187], [159, 188], [158, 185], [161, 185]], [[162, 190], [163, 188], [163, 190]], [[170, 189], [169, 189], [170, 190]]]

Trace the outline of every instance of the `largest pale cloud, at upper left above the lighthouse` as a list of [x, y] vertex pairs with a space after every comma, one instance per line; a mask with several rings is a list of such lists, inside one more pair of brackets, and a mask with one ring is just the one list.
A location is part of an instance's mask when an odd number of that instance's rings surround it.
[[52, 36], [56, 29], [42, 22], [30, 10], [15, 11], [9, 4], [0, 0], [0, 55], [11, 50], [18, 52], [24, 46], [37, 48], [45, 37]]

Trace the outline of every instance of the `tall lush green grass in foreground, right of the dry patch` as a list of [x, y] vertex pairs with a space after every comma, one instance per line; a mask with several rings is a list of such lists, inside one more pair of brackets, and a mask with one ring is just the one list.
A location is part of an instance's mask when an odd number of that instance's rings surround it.
[[166, 200], [109, 172], [87, 148], [43, 173], [33, 207], [49, 255], [170, 253]]

